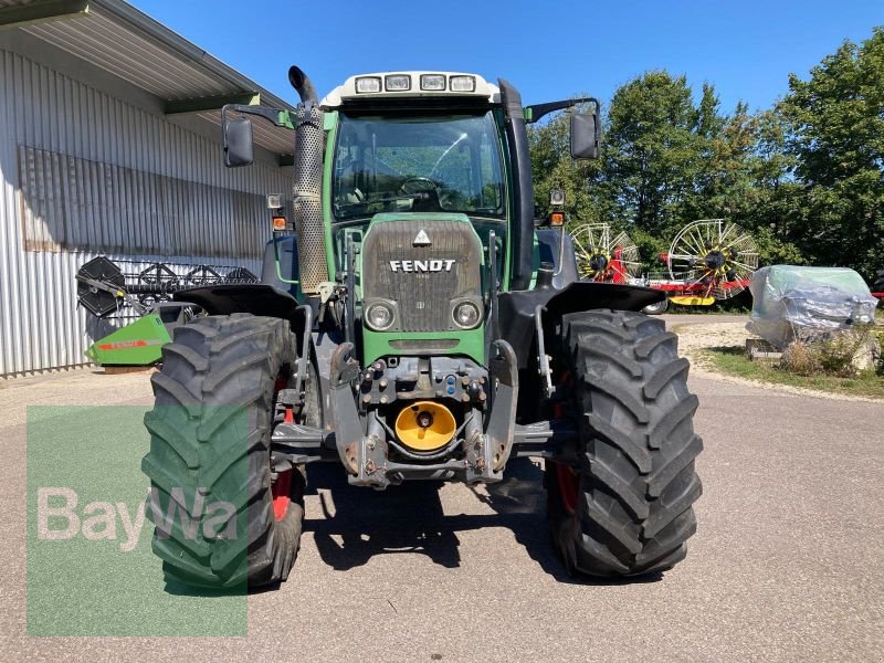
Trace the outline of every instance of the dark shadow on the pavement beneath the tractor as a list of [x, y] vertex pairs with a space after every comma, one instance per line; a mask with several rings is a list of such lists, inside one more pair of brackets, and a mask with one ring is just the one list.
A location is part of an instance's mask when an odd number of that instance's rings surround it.
[[[444, 514], [439, 482], [413, 482], [385, 492], [354, 487], [340, 467], [309, 465], [308, 494], [318, 492], [323, 515], [304, 522], [323, 561], [335, 570], [367, 564], [378, 555], [420, 554], [445, 568], [461, 565], [457, 533], [506, 527], [528, 556], [555, 580], [589, 586], [618, 586], [656, 581], [660, 576], [609, 580], [571, 577], [556, 554], [546, 519], [543, 467], [528, 459], [507, 464], [506, 478], [471, 486], [472, 498], [493, 514]], [[326, 496], [330, 495], [330, 499]], [[334, 507], [332, 506], [334, 505]]]

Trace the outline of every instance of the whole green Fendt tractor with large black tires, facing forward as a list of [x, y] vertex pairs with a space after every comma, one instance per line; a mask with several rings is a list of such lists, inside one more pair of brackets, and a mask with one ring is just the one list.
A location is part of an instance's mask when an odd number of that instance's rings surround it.
[[352, 76], [323, 101], [290, 81], [295, 110], [227, 106], [222, 129], [229, 167], [253, 161], [248, 116], [292, 129], [294, 232], [276, 210], [261, 283], [175, 294], [209, 315], [152, 378], [143, 469], [167, 579], [285, 580], [313, 462], [383, 490], [543, 459], [570, 572], [682, 560], [702, 441], [677, 338], [639, 313], [664, 295], [580, 281], [561, 214], [535, 219], [527, 124], [570, 108], [571, 156], [597, 158], [598, 103], [524, 107], [462, 73]]

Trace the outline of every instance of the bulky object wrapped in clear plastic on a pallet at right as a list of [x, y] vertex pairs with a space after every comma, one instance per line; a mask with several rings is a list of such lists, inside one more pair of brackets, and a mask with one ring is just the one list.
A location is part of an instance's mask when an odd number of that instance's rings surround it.
[[749, 291], [754, 304], [746, 328], [779, 349], [872, 323], [877, 305], [862, 276], [848, 267], [761, 267]]

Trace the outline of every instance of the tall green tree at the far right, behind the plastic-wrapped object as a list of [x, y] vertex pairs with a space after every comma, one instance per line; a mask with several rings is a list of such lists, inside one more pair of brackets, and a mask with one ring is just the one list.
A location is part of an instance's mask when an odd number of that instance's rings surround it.
[[884, 28], [845, 41], [808, 81], [791, 75], [777, 110], [803, 187], [796, 243], [870, 278], [884, 266]]

